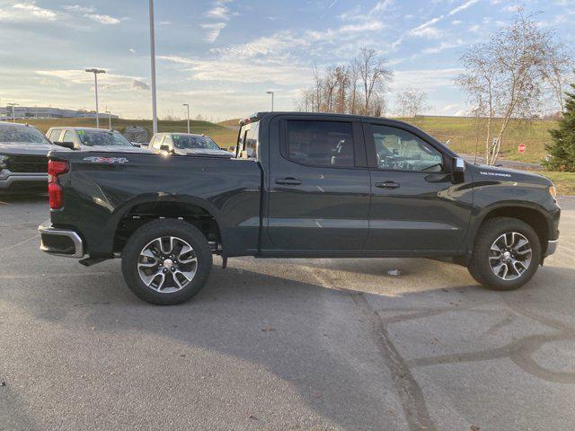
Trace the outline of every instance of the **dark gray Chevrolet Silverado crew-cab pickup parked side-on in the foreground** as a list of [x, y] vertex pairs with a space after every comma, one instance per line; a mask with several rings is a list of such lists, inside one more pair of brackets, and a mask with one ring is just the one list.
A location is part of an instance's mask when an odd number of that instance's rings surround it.
[[524, 285], [559, 236], [553, 184], [464, 161], [391, 119], [271, 112], [241, 122], [233, 158], [49, 154], [41, 250], [122, 258], [140, 298], [181, 303], [212, 254], [451, 258], [482, 285]]

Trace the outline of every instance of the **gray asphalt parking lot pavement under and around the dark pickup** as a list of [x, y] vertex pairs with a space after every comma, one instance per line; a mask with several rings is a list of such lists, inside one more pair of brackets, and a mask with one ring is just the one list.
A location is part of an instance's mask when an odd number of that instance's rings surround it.
[[246, 258], [175, 307], [119, 260], [41, 253], [45, 198], [0, 201], [2, 430], [574, 427], [575, 198], [516, 292], [426, 259]]

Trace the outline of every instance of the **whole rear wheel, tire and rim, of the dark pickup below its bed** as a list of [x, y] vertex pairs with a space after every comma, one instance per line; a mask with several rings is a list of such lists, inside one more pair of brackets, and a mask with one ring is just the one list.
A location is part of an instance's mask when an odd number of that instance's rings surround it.
[[188, 301], [206, 284], [211, 267], [206, 237], [181, 220], [144, 224], [122, 251], [122, 273], [129, 289], [158, 305]]

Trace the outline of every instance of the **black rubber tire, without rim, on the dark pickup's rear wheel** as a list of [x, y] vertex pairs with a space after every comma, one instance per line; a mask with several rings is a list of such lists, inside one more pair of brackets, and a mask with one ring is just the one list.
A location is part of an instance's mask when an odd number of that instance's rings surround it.
[[[146, 244], [153, 242], [156, 238], [170, 236], [187, 242], [193, 249], [197, 259], [194, 267], [195, 275], [188, 285], [182, 287], [181, 290], [169, 293], [159, 292], [152, 287], [146, 286], [146, 283], [139, 275], [138, 262], [140, 261], [140, 253], [144, 250]], [[175, 305], [188, 301], [206, 284], [211, 268], [212, 252], [206, 237], [195, 226], [181, 220], [155, 220], [140, 226], [129, 237], [122, 251], [122, 273], [129, 289], [138, 298], [157, 305]]]

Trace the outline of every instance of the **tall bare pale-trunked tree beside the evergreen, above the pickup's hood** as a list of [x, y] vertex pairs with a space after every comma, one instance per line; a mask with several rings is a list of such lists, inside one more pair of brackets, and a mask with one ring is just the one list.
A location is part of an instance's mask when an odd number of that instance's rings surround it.
[[552, 33], [519, 10], [513, 23], [461, 57], [465, 72], [456, 82], [487, 118], [486, 163], [497, 162], [509, 119], [539, 114], [552, 45]]

